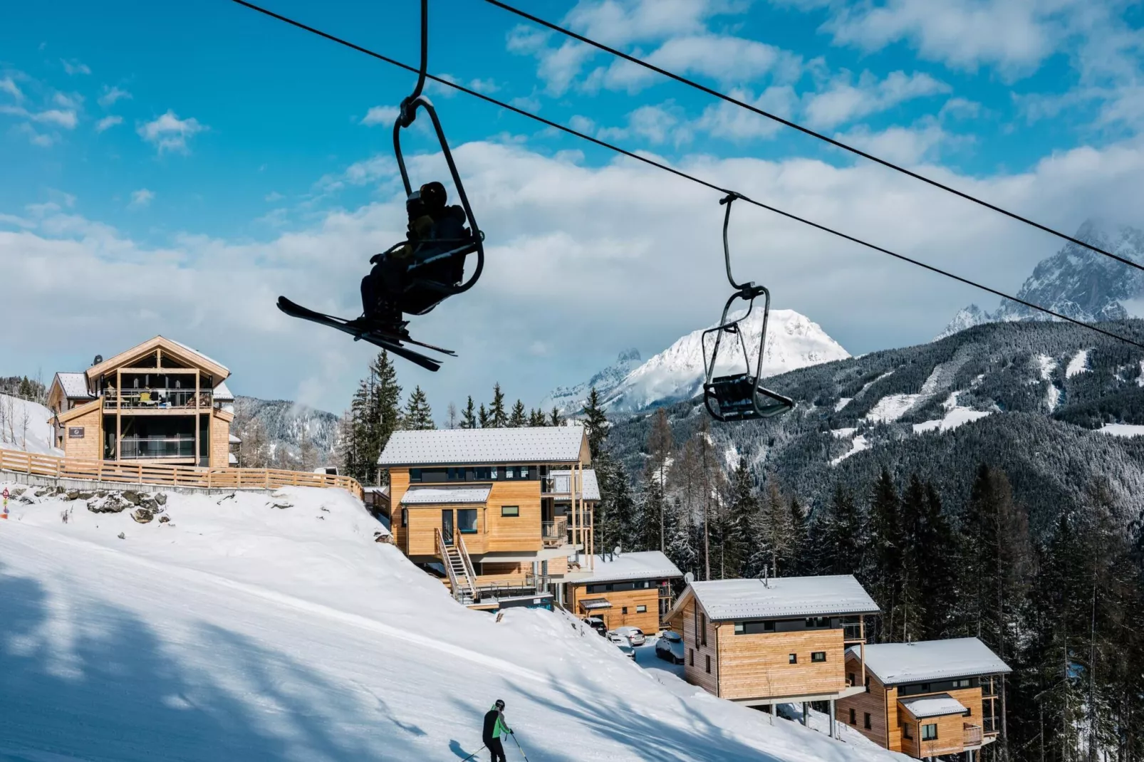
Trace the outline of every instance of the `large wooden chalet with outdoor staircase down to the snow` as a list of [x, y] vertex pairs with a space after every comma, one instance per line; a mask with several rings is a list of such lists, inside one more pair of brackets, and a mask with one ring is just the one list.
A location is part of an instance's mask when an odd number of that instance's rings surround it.
[[579, 426], [396, 431], [378, 460], [394, 542], [467, 605], [562, 604], [593, 564], [590, 460]]

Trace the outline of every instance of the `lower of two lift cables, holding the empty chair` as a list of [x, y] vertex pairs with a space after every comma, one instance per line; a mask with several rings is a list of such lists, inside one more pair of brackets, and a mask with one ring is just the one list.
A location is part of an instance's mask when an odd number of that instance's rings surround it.
[[[325, 39], [327, 39], [327, 40], [329, 40], [332, 42], [336, 42], [336, 43], [345, 46], [347, 48], [350, 48], [352, 50], [357, 50], [358, 53], [364, 53], [365, 55], [371, 56], [373, 58], [376, 58], [379, 61], [384, 61], [386, 63], [391, 64], [394, 66], [397, 66], [399, 69], [404, 69], [405, 71], [410, 71], [410, 72], [413, 72], [415, 74], [420, 73], [416, 66], [411, 66], [411, 65], [408, 65], [406, 63], [402, 63], [400, 61], [397, 61], [396, 58], [390, 58], [389, 56], [382, 55], [382, 54], [376, 53], [374, 50], [371, 50], [368, 48], [364, 48], [360, 45], [356, 45], [353, 42], [350, 42], [349, 40], [344, 40], [344, 39], [342, 39], [340, 37], [331, 34], [328, 32], [323, 32], [319, 29], [315, 29], [313, 26], [309, 26], [307, 24], [303, 24], [302, 22], [294, 21], [293, 18], [289, 18], [287, 16], [283, 16], [281, 14], [277, 14], [277, 13], [275, 13], [272, 10], [269, 10], [268, 8], [263, 8], [261, 6], [254, 5], [253, 2], [248, 2], [248, 0], [231, 0], [231, 2], [236, 2], [236, 3], [240, 5], [240, 6], [245, 6], [246, 8], [249, 8], [251, 10], [256, 10], [260, 14], [264, 14], [267, 16], [270, 16], [271, 18], [276, 18], [276, 19], [278, 19], [280, 22], [289, 24], [291, 26], [295, 26], [297, 29], [301, 29], [301, 30], [304, 30], [307, 32], [310, 32], [311, 34], [317, 34], [318, 37], [323, 37], [323, 38], [325, 38]], [[860, 238], [856, 238], [855, 236], [850, 236], [848, 233], [841, 232], [841, 231], [835, 230], [833, 228], [828, 228], [827, 225], [820, 224], [818, 222], [813, 222], [811, 220], [807, 220], [805, 217], [801, 217], [801, 216], [799, 216], [796, 214], [792, 214], [791, 212], [785, 212], [784, 209], [780, 209], [780, 208], [774, 207], [774, 206], [770, 206], [769, 204], [764, 204], [762, 201], [756, 201], [755, 199], [748, 198], [748, 197], [744, 196], [742, 193], [739, 193], [738, 191], [732, 191], [730, 189], [723, 188], [722, 185], [717, 185], [716, 183], [709, 182], [709, 181], [704, 180], [701, 177], [697, 177], [697, 176], [694, 176], [692, 174], [683, 172], [682, 169], [677, 169], [676, 167], [672, 167], [669, 165], [656, 161], [654, 159], [651, 159], [651, 158], [649, 158], [646, 156], [641, 156], [638, 153], [634, 153], [633, 151], [628, 151], [627, 149], [620, 148], [619, 145], [615, 145], [613, 143], [609, 143], [607, 141], [602, 141], [598, 137], [593, 137], [591, 135], [587, 135], [587, 134], [581, 133], [579, 130], [572, 129], [571, 127], [565, 127], [564, 125], [555, 122], [555, 121], [553, 121], [550, 119], [546, 119], [545, 117], [541, 117], [539, 114], [532, 113], [531, 111], [525, 111], [524, 109], [519, 109], [519, 108], [517, 108], [515, 105], [510, 105], [508, 103], [505, 103], [503, 101], [498, 101], [496, 98], [494, 98], [492, 96], [485, 95], [484, 93], [478, 93], [477, 90], [474, 90], [474, 89], [470, 89], [468, 87], [464, 87], [463, 85], [459, 85], [459, 84], [456, 84], [456, 82], [454, 82], [452, 80], [444, 79], [442, 77], [436, 77], [434, 74], [426, 74], [426, 78], [427, 79], [431, 79], [432, 81], [437, 82], [438, 85], [444, 85], [446, 87], [452, 87], [453, 89], [460, 90], [461, 93], [464, 93], [466, 95], [471, 95], [475, 98], [479, 98], [482, 101], [485, 101], [486, 103], [492, 103], [495, 106], [499, 106], [501, 109], [506, 109], [506, 110], [511, 111], [514, 113], [521, 114], [522, 117], [526, 117], [526, 118], [532, 119], [534, 121], [539, 121], [540, 124], [546, 125], [548, 127], [551, 127], [554, 129], [558, 129], [558, 130], [561, 130], [563, 133], [566, 133], [569, 135], [574, 135], [574, 136], [577, 136], [577, 137], [579, 137], [581, 140], [588, 141], [589, 143], [594, 143], [596, 145], [599, 145], [601, 148], [605, 148], [605, 149], [607, 149], [610, 151], [614, 151], [615, 153], [620, 153], [620, 154], [626, 156], [626, 157], [628, 157], [630, 159], [635, 159], [636, 161], [642, 161], [643, 164], [646, 164], [649, 166], [656, 167], [658, 169], [662, 169], [664, 172], [669, 172], [673, 175], [676, 175], [678, 177], [683, 177], [685, 180], [690, 180], [693, 183], [698, 183], [700, 185], [704, 185], [705, 188], [709, 188], [712, 190], [718, 191], [720, 193], [722, 193], [724, 196], [726, 196], [729, 193], [734, 193], [736, 196], [739, 197], [740, 200], [742, 200], [742, 201], [745, 201], [747, 204], [753, 204], [753, 205], [755, 205], [755, 206], [757, 206], [760, 208], [766, 209], [768, 212], [773, 212], [774, 214], [778, 214], [780, 216], [787, 217], [788, 220], [794, 220], [795, 222], [801, 222], [804, 225], [810, 225], [811, 228], [817, 228], [818, 230], [821, 230], [824, 232], [828, 232], [832, 236], [837, 236], [839, 238], [843, 238], [845, 240], [849, 240], [851, 243], [858, 244], [860, 246], [865, 246], [866, 248], [873, 249], [873, 251], [879, 252], [881, 254], [885, 254], [888, 256], [892, 256], [892, 257], [895, 257], [897, 260], [901, 260], [903, 262], [908, 262], [909, 264], [923, 268], [925, 270], [929, 270], [930, 272], [936, 272], [937, 275], [944, 276], [946, 278], [951, 278], [951, 279], [956, 280], [959, 283], [966, 284], [967, 286], [972, 286], [974, 288], [979, 288], [980, 291], [984, 291], [986, 293], [993, 294], [994, 296], [1000, 296], [1002, 299], [1008, 299], [1008, 300], [1010, 300], [1012, 302], [1016, 302], [1018, 304], [1023, 304], [1023, 305], [1025, 305], [1025, 307], [1027, 307], [1027, 308], [1030, 308], [1032, 310], [1036, 310], [1039, 312], [1043, 312], [1044, 315], [1049, 315], [1049, 316], [1055, 317], [1055, 318], [1057, 318], [1059, 320], [1064, 320], [1066, 323], [1072, 323], [1074, 325], [1079, 325], [1081, 327], [1088, 328], [1089, 331], [1095, 331], [1096, 333], [1104, 334], [1105, 336], [1109, 336], [1110, 339], [1115, 339], [1118, 341], [1122, 341], [1122, 342], [1131, 344], [1134, 347], [1139, 347], [1141, 349], [1144, 349], [1144, 343], [1137, 342], [1137, 341], [1135, 341], [1133, 339], [1129, 339], [1127, 336], [1122, 336], [1122, 335], [1113, 333], [1111, 331], [1106, 331], [1106, 330], [1104, 330], [1104, 328], [1102, 328], [1099, 326], [1093, 325], [1090, 323], [1086, 323], [1083, 320], [1078, 320], [1077, 318], [1068, 317], [1067, 315], [1062, 315], [1060, 312], [1057, 312], [1055, 310], [1050, 310], [1048, 308], [1041, 307], [1039, 304], [1034, 304], [1033, 302], [1026, 301], [1024, 299], [1019, 299], [1017, 296], [1012, 296], [1010, 294], [1007, 294], [1003, 291], [998, 291], [996, 288], [992, 288], [990, 286], [979, 284], [979, 283], [977, 283], [975, 280], [970, 280], [969, 278], [963, 278], [963, 277], [961, 277], [959, 275], [955, 275], [955, 273], [950, 272], [947, 270], [943, 270], [942, 268], [935, 267], [932, 264], [927, 264], [925, 262], [921, 262], [919, 260], [912, 259], [909, 256], [906, 256], [905, 254], [898, 254], [897, 252], [891, 252], [890, 249], [883, 248], [881, 246], [877, 246], [876, 244], [871, 244], [869, 241], [863, 240]]]

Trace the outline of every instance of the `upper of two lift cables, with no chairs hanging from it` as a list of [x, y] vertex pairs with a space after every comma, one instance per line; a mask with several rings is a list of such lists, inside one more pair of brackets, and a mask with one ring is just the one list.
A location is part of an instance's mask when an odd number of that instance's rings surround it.
[[502, 0], [484, 0], [484, 1], [487, 2], [487, 3], [490, 3], [490, 5], [496, 6], [498, 8], [507, 10], [510, 14], [515, 14], [515, 15], [522, 17], [522, 18], [526, 18], [526, 19], [529, 19], [529, 21], [531, 21], [531, 22], [533, 22], [535, 24], [540, 24], [541, 26], [550, 29], [554, 32], [559, 32], [561, 34], [564, 34], [566, 37], [572, 38], [573, 40], [578, 40], [580, 42], [583, 42], [585, 45], [590, 45], [594, 48], [597, 48], [597, 49], [603, 50], [605, 53], [609, 53], [609, 54], [611, 54], [613, 56], [622, 58], [623, 61], [627, 61], [629, 63], [634, 63], [637, 66], [643, 66], [644, 69], [653, 71], [653, 72], [656, 72], [658, 74], [662, 74], [664, 77], [667, 77], [668, 79], [674, 79], [677, 82], [681, 82], [681, 84], [686, 85], [689, 87], [693, 87], [697, 90], [706, 93], [707, 95], [710, 95], [713, 97], [720, 98], [721, 101], [725, 101], [726, 103], [731, 103], [733, 105], [737, 105], [740, 109], [746, 109], [747, 111], [754, 112], [754, 113], [756, 113], [756, 114], [758, 114], [761, 117], [765, 117], [768, 119], [777, 121], [778, 124], [780, 124], [780, 125], [782, 125], [785, 127], [789, 127], [792, 129], [796, 129], [800, 133], [803, 133], [804, 135], [810, 135], [811, 137], [816, 137], [816, 138], [818, 138], [820, 141], [825, 141], [826, 143], [829, 143], [834, 148], [842, 149], [843, 151], [849, 151], [850, 153], [853, 153], [856, 156], [860, 156], [864, 159], [868, 159], [871, 161], [880, 164], [883, 167], [887, 167], [889, 169], [893, 169], [895, 172], [899, 172], [899, 173], [901, 173], [901, 174], [904, 174], [904, 175], [906, 175], [908, 177], [913, 177], [914, 180], [920, 180], [921, 182], [927, 183], [929, 185], [932, 185], [934, 188], [939, 188], [939, 189], [942, 189], [942, 190], [944, 190], [946, 192], [953, 193], [954, 196], [960, 196], [961, 198], [966, 199], [967, 201], [972, 201], [974, 204], [977, 204], [979, 206], [984, 206], [987, 209], [992, 209], [993, 212], [996, 212], [999, 214], [1003, 214], [1007, 217], [1010, 217], [1012, 220], [1017, 220], [1018, 222], [1024, 222], [1027, 225], [1032, 225], [1033, 228], [1036, 228], [1038, 230], [1041, 230], [1041, 231], [1047, 232], [1049, 235], [1056, 236], [1057, 238], [1062, 238], [1062, 239], [1064, 239], [1064, 240], [1066, 240], [1066, 241], [1068, 241], [1071, 244], [1075, 244], [1077, 246], [1082, 246], [1083, 248], [1087, 248], [1089, 251], [1096, 252], [1097, 254], [1101, 254], [1103, 256], [1107, 256], [1109, 259], [1115, 260], [1117, 262], [1120, 262], [1121, 264], [1127, 264], [1128, 267], [1136, 268], [1137, 270], [1144, 270], [1144, 265], [1138, 264], [1136, 262], [1133, 262], [1131, 260], [1129, 260], [1127, 257], [1123, 257], [1123, 256], [1120, 256], [1119, 254], [1113, 254], [1112, 252], [1103, 249], [1099, 246], [1094, 246], [1093, 244], [1088, 244], [1088, 243], [1086, 243], [1083, 240], [1080, 240], [1079, 238], [1074, 238], [1074, 237], [1072, 237], [1072, 236], [1070, 236], [1067, 233], [1060, 232], [1059, 230], [1056, 230], [1054, 228], [1049, 228], [1048, 225], [1041, 224], [1040, 222], [1036, 222], [1035, 220], [1030, 220], [1028, 217], [1019, 215], [1016, 212], [1010, 212], [1009, 209], [1000, 207], [1000, 206], [998, 206], [995, 204], [991, 204], [990, 201], [986, 201], [985, 199], [982, 199], [982, 198], [978, 198], [978, 197], [972, 196], [970, 193], [967, 193], [966, 191], [961, 191], [961, 190], [958, 190], [956, 188], [953, 188], [951, 185], [946, 185], [945, 183], [942, 183], [942, 182], [939, 182], [937, 180], [934, 180], [932, 177], [927, 177], [925, 175], [922, 175], [922, 174], [919, 174], [919, 173], [913, 172], [911, 169], [907, 169], [907, 168], [903, 167], [901, 165], [897, 165], [897, 164], [893, 164], [892, 161], [889, 161], [887, 159], [879, 158], [879, 157], [874, 156], [873, 153], [867, 153], [866, 151], [863, 151], [861, 149], [855, 148], [853, 145], [850, 145], [848, 143], [843, 143], [842, 141], [835, 140], [835, 138], [833, 138], [833, 137], [831, 137], [828, 135], [824, 135], [823, 133], [816, 132], [816, 130], [813, 130], [813, 129], [811, 129], [809, 127], [804, 127], [804, 126], [802, 126], [802, 125], [800, 125], [800, 124], [797, 124], [795, 121], [791, 121], [789, 119], [784, 119], [782, 117], [780, 117], [780, 116], [778, 116], [776, 113], [771, 113], [770, 111], [765, 111], [763, 109], [760, 109], [758, 106], [753, 105], [750, 103], [747, 103], [746, 101], [741, 101], [741, 100], [739, 100], [739, 98], [737, 98], [734, 96], [728, 95], [725, 93], [721, 93], [721, 92], [718, 92], [718, 90], [716, 90], [714, 88], [707, 87], [706, 85], [701, 85], [700, 82], [697, 82], [693, 79], [688, 79], [686, 77], [683, 77], [682, 74], [676, 74], [675, 72], [669, 71], [667, 69], [664, 69], [661, 66], [657, 66], [653, 63], [650, 63], [650, 62], [644, 61], [642, 58], [637, 58], [636, 56], [633, 56], [633, 55], [628, 55], [627, 53], [623, 53], [622, 50], [617, 50], [613, 47], [604, 45], [603, 42], [597, 42], [596, 40], [593, 40], [591, 38], [585, 37], [583, 34], [578, 34], [577, 32], [573, 32], [570, 29], [565, 29], [564, 26], [561, 26], [559, 24], [554, 24], [553, 22], [545, 21], [543, 18], [540, 18], [539, 16], [534, 16], [534, 15], [532, 15], [532, 14], [525, 11], [525, 10], [521, 10], [519, 8], [513, 7], [513, 6], [508, 5], [507, 2], [502, 2]]

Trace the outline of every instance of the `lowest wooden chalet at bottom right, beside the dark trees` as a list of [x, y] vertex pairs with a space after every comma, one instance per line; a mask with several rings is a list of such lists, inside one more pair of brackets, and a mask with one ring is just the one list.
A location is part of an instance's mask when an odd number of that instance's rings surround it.
[[847, 654], [868, 692], [837, 704], [837, 720], [874, 743], [915, 759], [972, 760], [1001, 729], [999, 692], [1009, 666], [976, 637], [867, 645]]

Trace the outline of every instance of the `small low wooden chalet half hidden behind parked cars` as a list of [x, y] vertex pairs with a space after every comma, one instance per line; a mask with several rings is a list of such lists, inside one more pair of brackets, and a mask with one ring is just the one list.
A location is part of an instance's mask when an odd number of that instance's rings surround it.
[[683, 574], [659, 550], [605, 553], [586, 579], [567, 584], [567, 609], [599, 617], [609, 629], [638, 627], [654, 635], [672, 608], [672, 580]]

